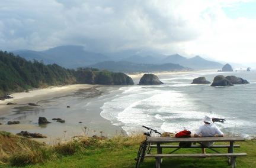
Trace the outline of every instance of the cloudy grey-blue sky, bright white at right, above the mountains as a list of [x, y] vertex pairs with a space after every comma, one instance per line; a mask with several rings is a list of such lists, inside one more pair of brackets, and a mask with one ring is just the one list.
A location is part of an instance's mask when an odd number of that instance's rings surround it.
[[8, 0], [0, 50], [82, 45], [111, 54], [180, 54], [256, 62], [256, 0]]

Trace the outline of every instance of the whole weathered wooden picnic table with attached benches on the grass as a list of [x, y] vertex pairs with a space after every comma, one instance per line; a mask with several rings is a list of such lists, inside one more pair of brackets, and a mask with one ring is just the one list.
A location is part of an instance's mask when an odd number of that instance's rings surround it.
[[[229, 137], [186, 137], [186, 138], [177, 138], [177, 137], [149, 137], [148, 143], [156, 143], [156, 145], [151, 145], [151, 147], [155, 147], [157, 149], [156, 154], [146, 154], [145, 157], [155, 157], [156, 159], [156, 168], [160, 168], [162, 158], [164, 157], [228, 157], [228, 162], [231, 164], [232, 168], [236, 167], [236, 157], [237, 156], [247, 156], [247, 153], [233, 153], [233, 149], [235, 147], [240, 147], [239, 145], [234, 145], [235, 141], [244, 141], [243, 137], [239, 136], [229, 136]], [[166, 144], [166, 143], [180, 143], [180, 142], [191, 142], [191, 143], [199, 143], [203, 141], [215, 141], [215, 142], [229, 142], [227, 145], [213, 145], [211, 147], [206, 147], [210, 150], [215, 151], [216, 153], [183, 153], [183, 154], [175, 154], [174, 152], [183, 148], [184, 146]], [[165, 144], [164, 144], [165, 143]], [[201, 148], [201, 145], [192, 145], [190, 148]], [[172, 148], [170, 153], [162, 154], [162, 148]], [[219, 148], [227, 148], [228, 153], [220, 153], [217, 151]], [[152, 151], [152, 150], [151, 150]]]

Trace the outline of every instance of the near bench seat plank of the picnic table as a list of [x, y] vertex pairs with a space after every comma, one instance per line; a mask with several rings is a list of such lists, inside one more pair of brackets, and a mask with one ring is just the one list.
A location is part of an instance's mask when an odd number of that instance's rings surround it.
[[146, 154], [145, 157], [236, 157], [236, 156], [247, 156], [247, 153], [196, 153], [196, 154]]

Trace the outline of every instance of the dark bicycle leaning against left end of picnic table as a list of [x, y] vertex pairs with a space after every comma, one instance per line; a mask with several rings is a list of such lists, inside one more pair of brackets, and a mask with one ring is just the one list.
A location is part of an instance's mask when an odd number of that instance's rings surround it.
[[146, 126], [142, 126], [142, 127], [146, 128], [150, 131], [143, 133], [146, 136], [146, 139], [140, 143], [139, 151], [137, 153], [137, 157], [135, 158], [135, 160], [137, 161], [136, 168], [139, 168], [140, 164], [145, 160], [146, 151], [147, 151], [147, 154], [149, 154], [151, 151], [150, 144], [147, 142], [147, 140], [149, 137], [151, 137], [152, 131], [155, 133], [161, 134], [157, 130], [153, 130], [149, 127], [146, 127]]

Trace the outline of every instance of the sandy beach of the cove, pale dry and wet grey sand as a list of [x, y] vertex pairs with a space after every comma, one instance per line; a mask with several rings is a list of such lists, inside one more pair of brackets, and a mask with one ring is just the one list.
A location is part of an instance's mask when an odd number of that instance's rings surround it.
[[[182, 75], [190, 73], [197, 73], [197, 71], [153, 74]], [[129, 76], [137, 84], [143, 74]], [[97, 90], [97, 87], [100, 87], [101, 91]], [[113, 86], [104, 88], [103, 85], [78, 84], [31, 90], [29, 93], [13, 93], [10, 96], [14, 98], [0, 101], [0, 123], [2, 124], [0, 130], [11, 133], [20, 133], [22, 130], [41, 133], [48, 138], [35, 140], [47, 142], [56, 141], [56, 139], [67, 140], [68, 137], [84, 134], [100, 136], [100, 131], [103, 131], [104, 136], [121, 134], [123, 133], [121, 126], [115, 126], [111, 124], [111, 121], [100, 116], [101, 101], [97, 99], [98, 95], [107, 95], [107, 89], [110, 87], [113, 88]], [[79, 90], [81, 91], [79, 92]], [[97, 104], [94, 105], [96, 102]], [[7, 103], [17, 103], [18, 105], [7, 105]], [[40, 106], [31, 107], [28, 103], [38, 103]], [[90, 106], [86, 106], [87, 104]], [[71, 106], [71, 108], [66, 106]], [[85, 106], [86, 109], [80, 108]], [[38, 124], [39, 117], [46, 117], [52, 124]], [[56, 123], [52, 120], [52, 118], [58, 117], [66, 120], [66, 123]], [[21, 121], [21, 124], [8, 125], [9, 120], [18, 120]], [[86, 132], [84, 127], [87, 127]], [[64, 131], [66, 132], [64, 133]]]

